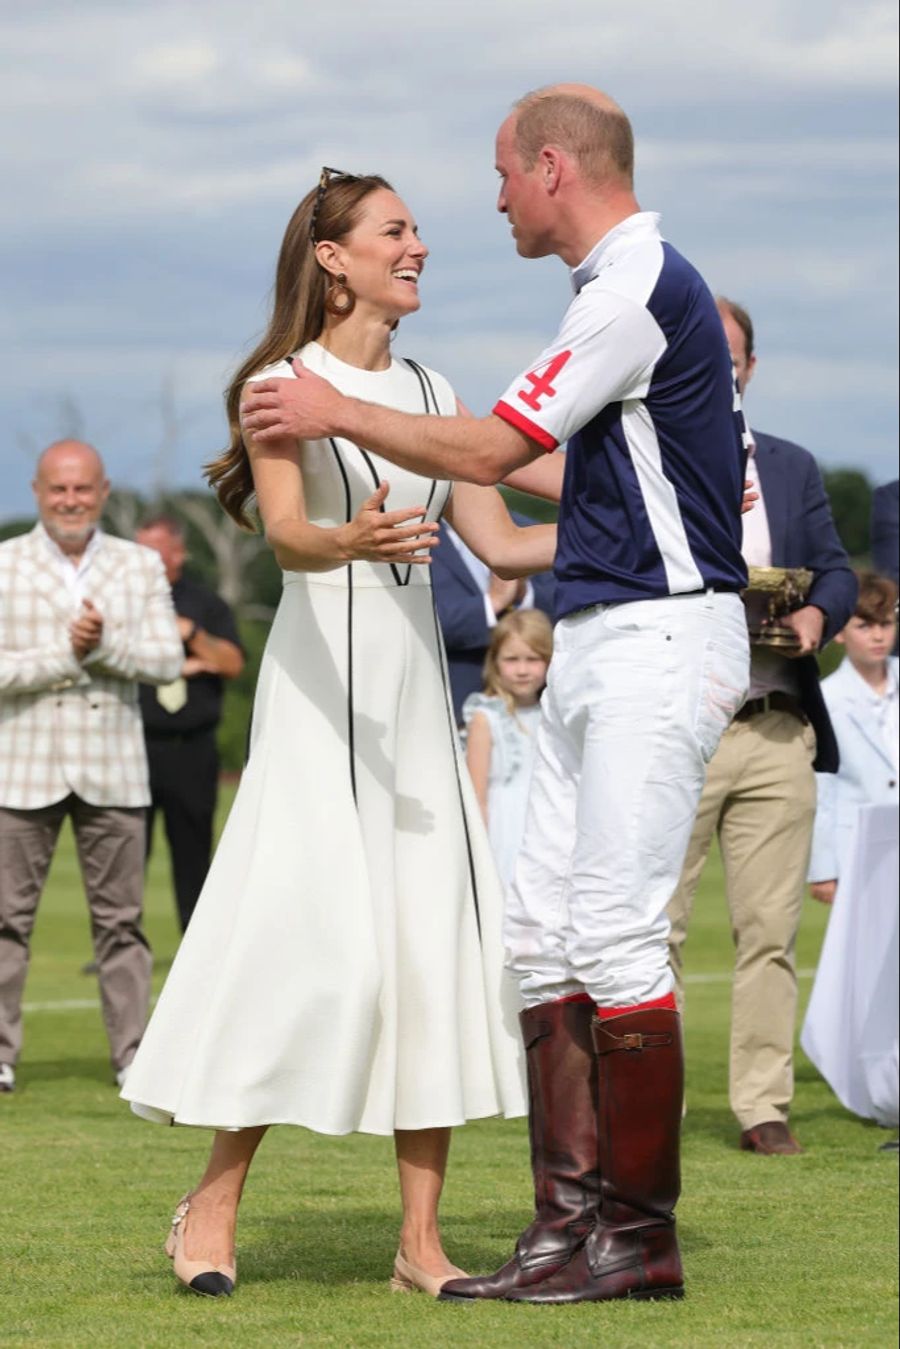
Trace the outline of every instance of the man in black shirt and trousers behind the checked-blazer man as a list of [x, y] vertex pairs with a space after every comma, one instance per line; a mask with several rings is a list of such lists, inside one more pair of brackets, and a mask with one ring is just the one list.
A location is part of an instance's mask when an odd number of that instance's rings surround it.
[[223, 681], [240, 674], [244, 653], [235, 618], [219, 595], [184, 576], [188, 557], [179, 522], [169, 515], [146, 521], [139, 544], [162, 557], [185, 646], [181, 674], [171, 684], [140, 685], [140, 711], [150, 761], [152, 804], [147, 812], [147, 851], [157, 811], [162, 811], [182, 931], [209, 870], [219, 788], [216, 727]]

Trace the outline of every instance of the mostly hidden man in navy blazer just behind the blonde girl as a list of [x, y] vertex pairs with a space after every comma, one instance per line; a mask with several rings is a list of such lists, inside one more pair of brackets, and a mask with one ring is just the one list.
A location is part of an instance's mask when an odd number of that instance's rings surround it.
[[[517, 525], [532, 525], [513, 514]], [[463, 723], [463, 703], [482, 688], [482, 666], [491, 629], [510, 608], [542, 608], [553, 618], [555, 584], [551, 572], [538, 572], [528, 583], [502, 581], [453, 538], [441, 521], [440, 545], [432, 552], [432, 584], [437, 618], [444, 634], [456, 724]], [[493, 618], [493, 622], [491, 622]]]

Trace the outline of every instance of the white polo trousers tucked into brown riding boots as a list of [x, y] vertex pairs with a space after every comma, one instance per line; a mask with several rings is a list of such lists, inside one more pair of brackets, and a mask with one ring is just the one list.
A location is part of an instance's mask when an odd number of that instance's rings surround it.
[[598, 604], [556, 625], [505, 923], [526, 1006], [672, 992], [665, 908], [748, 683], [738, 595]]

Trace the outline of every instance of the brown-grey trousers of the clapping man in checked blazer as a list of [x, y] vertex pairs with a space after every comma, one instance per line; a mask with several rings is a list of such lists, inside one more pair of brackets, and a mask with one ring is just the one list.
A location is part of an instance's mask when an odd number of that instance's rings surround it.
[[152, 959], [140, 925], [143, 807], [89, 805], [78, 796], [34, 811], [0, 809], [0, 1063], [22, 1048], [22, 993], [38, 901], [66, 815], [90, 908], [100, 1002], [115, 1070], [143, 1035]]

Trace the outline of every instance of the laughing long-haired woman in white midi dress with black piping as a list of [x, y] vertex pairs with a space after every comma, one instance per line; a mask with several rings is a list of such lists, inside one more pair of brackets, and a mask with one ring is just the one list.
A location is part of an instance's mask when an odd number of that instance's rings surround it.
[[456, 413], [440, 375], [390, 348], [426, 252], [383, 179], [324, 170], [231, 386], [231, 448], [208, 468], [242, 525], [255, 498], [283, 592], [240, 789], [123, 1090], [140, 1116], [216, 1130], [167, 1242], [208, 1295], [233, 1288], [237, 1203], [269, 1125], [393, 1133], [391, 1284], [437, 1294], [459, 1272], [437, 1224], [451, 1126], [525, 1113], [502, 894], [428, 563], [441, 513], [506, 575], [546, 568], [555, 529], [518, 529], [493, 488], [451, 496], [348, 441], [255, 444], [240, 428], [247, 380], [290, 376], [296, 353], [345, 393]]

